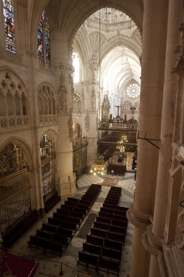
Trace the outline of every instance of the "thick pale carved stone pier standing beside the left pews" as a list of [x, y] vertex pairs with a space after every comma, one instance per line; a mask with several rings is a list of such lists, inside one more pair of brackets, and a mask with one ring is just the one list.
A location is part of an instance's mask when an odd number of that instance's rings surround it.
[[55, 66], [60, 80], [58, 101], [58, 137], [56, 145], [56, 187], [61, 199], [77, 192], [73, 175], [73, 66]]

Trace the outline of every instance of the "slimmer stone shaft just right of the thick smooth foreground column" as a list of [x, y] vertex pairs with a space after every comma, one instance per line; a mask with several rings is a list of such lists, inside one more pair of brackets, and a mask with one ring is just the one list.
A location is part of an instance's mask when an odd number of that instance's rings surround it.
[[[160, 255], [163, 253], [162, 244], [164, 241], [164, 230], [167, 215], [168, 190], [169, 190], [169, 169], [172, 161], [172, 141], [174, 132], [174, 116], [176, 103], [177, 74], [171, 73], [173, 61], [176, 59], [174, 49], [180, 44], [181, 34], [177, 31], [179, 24], [183, 22], [181, 1], [170, 0], [168, 12], [167, 47], [165, 60], [165, 83], [163, 91], [163, 110], [161, 123], [161, 144], [159, 152], [159, 166], [157, 176], [157, 190], [155, 198], [155, 210], [152, 226], [147, 230], [149, 243]], [[177, 16], [176, 16], [177, 15]], [[146, 234], [145, 234], [146, 235]], [[151, 259], [150, 274], [155, 276], [155, 264], [157, 258]], [[160, 268], [161, 269], [161, 268]]]

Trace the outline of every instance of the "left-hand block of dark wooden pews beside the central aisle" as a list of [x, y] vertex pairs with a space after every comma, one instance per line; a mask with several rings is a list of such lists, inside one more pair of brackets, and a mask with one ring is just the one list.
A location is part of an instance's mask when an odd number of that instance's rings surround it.
[[41, 230], [37, 230], [34, 236], [30, 236], [29, 246], [61, 257], [100, 191], [101, 185], [94, 185], [87, 190], [85, 194], [87, 197], [83, 195], [85, 199], [68, 197], [65, 204], [61, 204], [61, 208], [57, 208], [53, 216], [48, 217], [48, 223], [42, 223]]

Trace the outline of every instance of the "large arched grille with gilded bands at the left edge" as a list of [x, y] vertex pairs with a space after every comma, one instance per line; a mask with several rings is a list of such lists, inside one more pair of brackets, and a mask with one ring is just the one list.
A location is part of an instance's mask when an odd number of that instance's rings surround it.
[[31, 212], [28, 167], [22, 149], [7, 144], [0, 153], [1, 235]]

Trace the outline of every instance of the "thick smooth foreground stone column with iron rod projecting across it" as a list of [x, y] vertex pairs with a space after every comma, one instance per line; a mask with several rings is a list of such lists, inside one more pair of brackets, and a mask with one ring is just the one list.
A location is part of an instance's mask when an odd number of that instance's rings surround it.
[[[145, 0], [143, 16], [143, 49], [139, 136], [160, 139], [163, 80], [165, 65], [167, 0]], [[161, 35], [162, 34], [162, 35]], [[158, 143], [159, 144], [159, 143]], [[142, 236], [153, 221], [159, 149], [145, 140], [138, 140], [135, 202], [127, 217], [134, 227], [131, 277], [148, 277], [150, 253], [144, 248]], [[155, 268], [155, 277], [159, 266]]]

